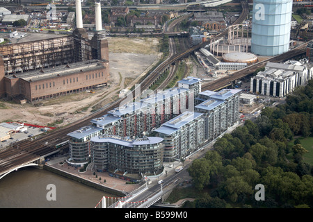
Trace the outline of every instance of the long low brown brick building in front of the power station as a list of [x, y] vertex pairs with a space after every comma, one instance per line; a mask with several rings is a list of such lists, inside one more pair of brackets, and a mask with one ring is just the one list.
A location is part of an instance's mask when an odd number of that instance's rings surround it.
[[88, 60], [4, 76], [6, 95], [12, 98], [22, 95], [34, 103], [95, 89], [107, 84], [107, 66], [108, 62], [104, 60]]

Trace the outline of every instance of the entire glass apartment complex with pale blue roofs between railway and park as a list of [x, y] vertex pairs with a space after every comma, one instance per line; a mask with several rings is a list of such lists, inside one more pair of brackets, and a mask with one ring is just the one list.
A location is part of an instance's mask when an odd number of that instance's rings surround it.
[[97, 171], [160, 173], [163, 162], [187, 157], [239, 120], [239, 92], [201, 92], [200, 79], [180, 80], [179, 87], [120, 105], [68, 134], [69, 162], [91, 157]]

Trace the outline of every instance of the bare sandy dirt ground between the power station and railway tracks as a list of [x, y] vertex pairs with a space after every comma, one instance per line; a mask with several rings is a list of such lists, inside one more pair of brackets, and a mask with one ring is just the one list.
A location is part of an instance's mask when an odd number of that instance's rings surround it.
[[37, 105], [20, 105], [2, 99], [0, 122], [21, 121], [40, 126], [65, 126], [118, 99], [120, 90], [134, 85], [161, 57], [157, 38], [108, 37], [108, 41], [110, 80], [107, 87], [95, 90], [95, 94], [81, 92], [41, 101]]

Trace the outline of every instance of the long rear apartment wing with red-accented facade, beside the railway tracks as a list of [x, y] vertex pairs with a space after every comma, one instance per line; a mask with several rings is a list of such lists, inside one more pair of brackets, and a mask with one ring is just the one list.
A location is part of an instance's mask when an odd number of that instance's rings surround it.
[[161, 124], [185, 111], [193, 111], [194, 95], [201, 92], [201, 80], [188, 77], [179, 87], [166, 89], [135, 101], [120, 105], [91, 123], [104, 134], [121, 137], [143, 137]]

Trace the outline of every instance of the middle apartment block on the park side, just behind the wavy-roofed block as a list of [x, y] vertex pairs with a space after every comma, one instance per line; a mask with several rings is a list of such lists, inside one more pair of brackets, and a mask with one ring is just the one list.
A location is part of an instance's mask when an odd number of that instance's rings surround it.
[[173, 162], [196, 151], [204, 142], [202, 113], [184, 112], [154, 130], [164, 139], [164, 162]]

